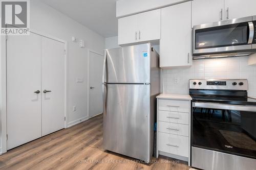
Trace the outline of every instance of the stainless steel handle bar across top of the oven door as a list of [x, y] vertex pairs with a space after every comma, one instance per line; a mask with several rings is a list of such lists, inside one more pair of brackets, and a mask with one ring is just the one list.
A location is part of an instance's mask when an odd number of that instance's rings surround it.
[[201, 102], [193, 102], [192, 106], [199, 107], [199, 108], [209, 108], [209, 109], [256, 112], [256, 106], [226, 105], [226, 104], [219, 104], [219, 103], [201, 103]]

